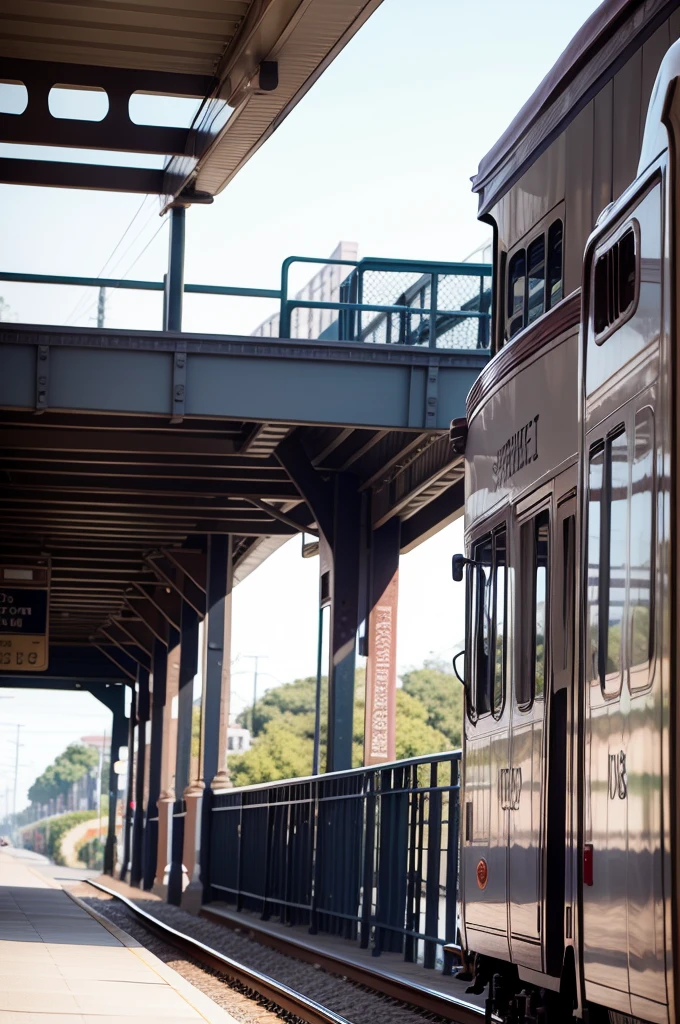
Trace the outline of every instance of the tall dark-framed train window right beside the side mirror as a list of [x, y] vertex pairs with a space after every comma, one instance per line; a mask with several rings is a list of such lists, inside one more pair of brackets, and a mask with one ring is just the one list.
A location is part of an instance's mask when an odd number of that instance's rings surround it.
[[[496, 656], [497, 656], [497, 640], [498, 640], [498, 569], [499, 562], [497, 560], [498, 552], [498, 538], [503, 535], [505, 538], [505, 559], [503, 562], [503, 567], [505, 569], [504, 577], [504, 594], [503, 594], [503, 610], [504, 610], [504, 632], [503, 632], [503, 651], [501, 658], [501, 688], [500, 688], [500, 700], [498, 705], [496, 703]], [[479, 586], [479, 573], [480, 565], [474, 564], [479, 558], [481, 552], [488, 548], [491, 550], [491, 558], [488, 562], [484, 562], [490, 570], [488, 578], [484, 583], [483, 592]], [[466, 712], [468, 719], [472, 725], [476, 725], [480, 720], [484, 718], [493, 718], [498, 721], [503, 717], [503, 712], [505, 710], [506, 703], [506, 686], [507, 686], [507, 650], [508, 650], [508, 527], [505, 520], [495, 526], [492, 530], [487, 530], [485, 534], [478, 538], [475, 538], [471, 543], [471, 557], [473, 563], [467, 566], [467, 581], [466, 581], [466, 650], [469, 652], [466, 656], [465, 666], [465, 679], [466, 679]], [[484, 643], [484, 633], [483, 625], [484, 621], [487, 625], [487, 650], [485, 653], [482, 651]], [[481, 628], [480, 628], [481, 627]], [[479, 659], [480, 655], [483, 655], [485, 659], [485, 666], [483, 669], [483, 681], [481, 680], [482, 673], [479, 671]], [[483, 682], [483, 685], [480, 685]]]

